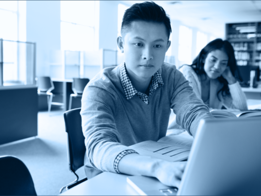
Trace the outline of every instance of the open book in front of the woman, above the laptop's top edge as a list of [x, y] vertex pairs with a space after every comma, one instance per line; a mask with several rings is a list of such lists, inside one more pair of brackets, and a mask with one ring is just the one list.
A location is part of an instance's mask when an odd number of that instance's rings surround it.
[[261, 117], [261, 109], [253, 109], [247, 111], [229, 111], [226, 109], [213, 109], [210, 111], [216, 118], [248, 118]]

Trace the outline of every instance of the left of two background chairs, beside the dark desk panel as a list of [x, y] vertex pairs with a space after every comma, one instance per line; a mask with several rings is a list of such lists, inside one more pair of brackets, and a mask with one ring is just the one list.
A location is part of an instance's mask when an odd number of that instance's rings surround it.
[[48, 112], [51, 111], [51, 105], [64, 106], [63, 103], [52, 102], [52, 97], [55, 96], [51, 91], [54, 90], [54, 85], [49, 76], [40, 76], [38, 81], [38, 94], [49, 95], [47, 96]]

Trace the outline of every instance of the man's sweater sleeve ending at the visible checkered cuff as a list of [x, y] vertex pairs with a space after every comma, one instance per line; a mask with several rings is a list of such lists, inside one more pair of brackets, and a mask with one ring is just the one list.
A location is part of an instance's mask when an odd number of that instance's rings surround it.
[[120, 135], [114, 122], [118, 99], [116, 93], [107, 89], [99, 82], [95, 85], [94, 82], [89, 82], [84, 89], [82, 131], [90, 165], [101, 171], [115, 172], [114, 161], [117, 155], [130, 148], [120, 143]]

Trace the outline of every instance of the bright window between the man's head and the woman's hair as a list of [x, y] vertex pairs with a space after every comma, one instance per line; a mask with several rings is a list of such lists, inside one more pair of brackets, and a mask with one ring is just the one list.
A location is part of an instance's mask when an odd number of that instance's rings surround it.
[[188, 27], [179, 26], [179, 61], [191, 61], [192, 30]]

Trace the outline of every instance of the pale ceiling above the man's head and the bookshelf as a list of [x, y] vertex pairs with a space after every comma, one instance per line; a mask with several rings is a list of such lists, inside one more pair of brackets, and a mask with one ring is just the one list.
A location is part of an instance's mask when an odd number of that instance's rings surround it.
[[[121, 0], [126, 5], [145, 0]], [[225, 24], [261, 21], [261, 0], [153, 0], [171, 20], [225, 37]]]

